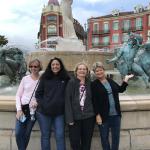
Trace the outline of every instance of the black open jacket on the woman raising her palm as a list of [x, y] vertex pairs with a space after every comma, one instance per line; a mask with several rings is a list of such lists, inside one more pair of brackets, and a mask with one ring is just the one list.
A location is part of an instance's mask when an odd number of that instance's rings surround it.
[[[126, 82], [123, 82], [122, 85], [119, 86], [112, 79], [108, 78], [107, 80], [112, 88], [116, 111], [118, 115], [121, 116], [119, 93], [124, 92], [128, 84]], [[98, 79], [92, 82], [92, 96], [93, 96], [94, 111], [96, 115], [100, 114], [102, 117], [102, 121], [105, 122], [109, 116], [109, 98], [107, 90]]]

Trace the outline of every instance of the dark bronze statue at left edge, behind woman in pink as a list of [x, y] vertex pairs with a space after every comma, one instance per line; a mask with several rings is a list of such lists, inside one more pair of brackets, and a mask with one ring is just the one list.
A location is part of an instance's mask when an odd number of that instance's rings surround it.
[[0, 50], [0, 76], [6, 75], [11, 84], [21, 80], [26, 74], [27, 65], [23, 52], [18, 48]]

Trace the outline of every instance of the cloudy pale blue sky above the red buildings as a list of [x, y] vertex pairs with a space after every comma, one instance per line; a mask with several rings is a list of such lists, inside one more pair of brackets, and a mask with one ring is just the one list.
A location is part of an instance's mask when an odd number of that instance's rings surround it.
[[[61, 0], [60, 0], [61, 1]], [[138, 4], [147, 6], [150, 0], [74, 0], [73, 16], [84, 25], [87, 18], [110, 14], [113, 9], [130, 11]], [[9, 44], [34, 50], [43, 5], [48, 0], [0, 0], [0, 35]]]

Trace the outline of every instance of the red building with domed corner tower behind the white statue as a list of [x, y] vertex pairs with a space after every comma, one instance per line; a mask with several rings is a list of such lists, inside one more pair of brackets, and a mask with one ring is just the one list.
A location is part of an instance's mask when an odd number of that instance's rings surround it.
[[[81, 24], [75, 19], [73, 24], [77, 37], [84, 40], [84, 29]], [[63, 37], [63, 16], [58, 0], [49, 0], [48, 5], [42, 10], [38, 39], [42, 42], [57, 36]], [[40, 45], [41, 48], [45, 46], [45, 42]]]

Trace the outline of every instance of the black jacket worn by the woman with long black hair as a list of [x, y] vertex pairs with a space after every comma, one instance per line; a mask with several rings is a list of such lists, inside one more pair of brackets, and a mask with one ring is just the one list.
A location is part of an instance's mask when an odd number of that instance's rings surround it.
[[59, 78], [40, 81], [35, 92], [38, 112], [51, 116], [64, 114], [66, 82]]

